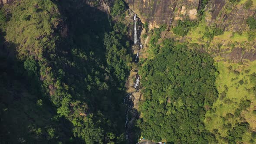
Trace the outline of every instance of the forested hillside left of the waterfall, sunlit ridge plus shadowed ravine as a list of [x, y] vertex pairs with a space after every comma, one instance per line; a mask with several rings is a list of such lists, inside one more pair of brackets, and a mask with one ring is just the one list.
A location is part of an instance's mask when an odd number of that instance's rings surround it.
[[[5, 25], [5, 38], [20, 45], [19, 49], [10, 46], [17, 50], [28, 82], [37, 82], [38, 92], [56, 108], [54, 120], [66, 119], [73, 125], [66, 131], [73, 129], [86, 143], [123, 143], [125, 113], [120, 95], [125, 93], [131, 61], [124, 36], [127, 28], [123, 23], [111, 27], [105, 13], [83, 4], [77, 8], [78, 4], [79, 0], [26, 0], [7, 5], [3, 9], [12, 16]], [[61, 17], [67, 19], [69, 35], [63, 34]], [[39, 109], [46, 106], [45, 101], [33, 103]], [[53, 143], [59, 140], [56, 127], [42, 133]], [[105, 138], [108, 133], [116, 137]]]

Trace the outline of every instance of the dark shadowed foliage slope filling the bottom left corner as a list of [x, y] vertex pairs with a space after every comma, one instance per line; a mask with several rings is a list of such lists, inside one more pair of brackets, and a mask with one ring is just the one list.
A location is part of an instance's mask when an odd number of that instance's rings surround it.
[[[0, 143], [68, 143], [72, 137], [71, 125], [56, 117], [49, 100], [30, 87], [30, 81], [26, 80], [30, 76], [26, 75], [23, 65], [1, 55], [0, 69]], [[54, 136], [48, 133], [50, 128], [54, 129]], [[72, 138], [74, 143], [79, 142]]]

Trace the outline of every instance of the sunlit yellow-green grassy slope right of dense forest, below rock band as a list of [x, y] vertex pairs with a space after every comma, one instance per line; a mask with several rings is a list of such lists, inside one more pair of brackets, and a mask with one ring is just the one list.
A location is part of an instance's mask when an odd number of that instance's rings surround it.
[[[216, 87], [219, 92], [219, 98], [214, 103], [213, 108], [216, 108], [216, 111], [211, 113], [210, 111], [207, 111], [206, 119], [204, 123], [206, 124], [206, 128], [210, 131], [213, 131], [214, 129], [218, 129], [220, 132], [220, 135], [222, 137], [227, 136], [228, 129], [223, 128], [223, 124], [236, 124], [240, 121], [247, 121], [250, 124], [250, 127], [252, 130], [256, 130], [256, 115], [252, 114], [252, 111], [254, 110], [254, 107], [256, 105], [256, 97], [254, 96], [253, 92], [246, 91], [246, 88], [251, 88], [255, 86], [255, 82], [251, 82], [249, 80], [249, 75], [253, 72], [256, 72], [256, 61], [254, 62], [248, 62], [246, 65], [239, 65], [235, 63], [228, 63], [228, 62], [216, 62], [216, 65], [218, 67], [218, 71], [220, 72], [220, 75], [216, 79]], [[236, 75], [233, 72], [230, 72], [228, 67], [232, 65], [233, 69], [236, 69], [240, 72], [240, 75]], [[245, 73], [245, 70], [249, 70], [249, 73]], [[231, 79], [236, 80], [231, 80]], [[239, 85], [239, 81], [242, 80], [246, 82], [243, 85]], [[225, 98], [221, 101], [220, 100], [220, 93], [224, 91], [226, 85], [228, 87], [228, 91], [226, 93], [226, 98], [229, 98], [232, 100], [232, 102], [228, 103], [225, 102]], [[239, 86], [238, 86], [239, 85]], [[247, 109], [248, 111], [242, 111], [242, 117], [244, 119], [240, 118], [230, 118], [227, 121], [223, 121], [222, 117], [225, 117], [227, 113], [232, 113], [234, 115], [234, 111], [236, 108], [239, 107], [240, 100], [250, 100], [252, 103], [250, 105], [250, 108]], [[222, 105], [222, 106], [221, 106]], [[209, 118], [211, 120], [209, 120]], [[251, 139], [250, 132], [248, 131], [243, 136], [243, 142], [249, 142]], [[223, 141], [222, 141], [223, 142]]]

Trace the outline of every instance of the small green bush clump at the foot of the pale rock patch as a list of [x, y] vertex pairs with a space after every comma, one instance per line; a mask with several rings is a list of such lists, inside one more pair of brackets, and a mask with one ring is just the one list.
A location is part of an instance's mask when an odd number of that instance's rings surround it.
[[197, 22], [185, 20], [181, 21], [178, 20], [178, 24], [176, 27], [173, 28], [173, 32], [178, 36], [186, 36], [189, 29], [193, 26], [196, 26]]

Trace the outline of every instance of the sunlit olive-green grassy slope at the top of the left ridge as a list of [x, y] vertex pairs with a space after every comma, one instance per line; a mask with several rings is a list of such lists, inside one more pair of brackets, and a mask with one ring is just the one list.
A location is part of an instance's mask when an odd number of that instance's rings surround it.
[[33, 52], [33, 55], [40, 57], [43, 49], [40, 48], [39, 41], [42, 37], [44, 43], [49, 41], [53, 33], [53, 23], [59, 16], [56, 5], [49, 0], [23, 0], [5, 5], [3, 10], [9, 10], [12, 14], [7, 22], [8, 26], [4, 28], [7, 33], [5, 39], [19, 44], [19, 58], [22, 59], [24, 55], [31, 55]]

